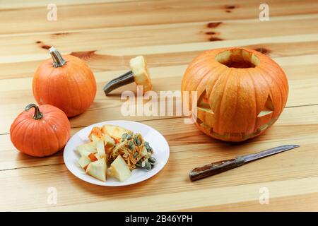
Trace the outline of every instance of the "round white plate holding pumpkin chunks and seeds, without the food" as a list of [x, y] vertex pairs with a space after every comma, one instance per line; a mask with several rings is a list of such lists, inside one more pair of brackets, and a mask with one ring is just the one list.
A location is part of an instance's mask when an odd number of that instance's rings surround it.
[[[78, 145], [89, 142], [88, 134], [94, 126], [103, 126], [105, 124], [122, 126], [126, 129], [134, 131], [135, 133], [141, 133], [145, 141], [148, 141], [149, 145], [151, 145], [151, 147], [153, 148], [153, 157], [155, 157], [155, 159], [157, 160], [157, 164], [155, 165], [155, 167], [153, 167], [153, 169], [149, 171], [146, 171], [146, 169], [134, 169], [131, 173], [131, 177], [129, 177], [129, 179], [126, 179], [126, 181], [124, 182], [119, 182], [119, 180], [112, 177], [108, 177], [106, 182], [102, 182], [86, 174], [81, 166], [78, 165], [78, 159], [80, 158], [80, 155], [75, 149]], [[151, 128], [150, 126], [146, 126], [136, 121], [103, 121], [87, 126], [71, 137], [64, 148], [64, 162], [66, 167], [69, 169], [69, 171], [71, 171], [72, 174], [90, 184], [97, 184], [101, 186], [125, 186], [129, 184], [136, 184], [150, 177], [153, 177], [161, 169], [163, 169], [163, 167], [167, 163], [169, 154], [169, 145], [163, 135], [161, 135], [161, 133]]]

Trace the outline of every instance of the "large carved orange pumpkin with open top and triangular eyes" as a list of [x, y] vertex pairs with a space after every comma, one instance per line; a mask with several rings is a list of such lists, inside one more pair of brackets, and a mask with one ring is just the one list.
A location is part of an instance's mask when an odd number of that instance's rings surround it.
[[181, 89], [197, 91], [197, 102], [189, 94], [196, 126], [223, 141], [245, 141], [264, 133], [288, 97], [287, 78], [275, 61], [237, 47], [200, 54], [184, 73]]

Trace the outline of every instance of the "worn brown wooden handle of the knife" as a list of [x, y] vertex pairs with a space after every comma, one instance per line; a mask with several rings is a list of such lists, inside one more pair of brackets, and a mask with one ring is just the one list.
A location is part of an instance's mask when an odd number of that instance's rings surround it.
[[203, 167], [196, 167], [192, 169], [189, 173], [190, 180], [192, 182], [197, 179], [202, 179], [204, 177], [219, 174], [220, 172], [225, 172], [229, 169], [240, 167], [244, 165], [245, 161], [242, 157], [236, 157], [231, 160], [223, 160], [219, 162], [212, 162], [211, 164], [205, 165]]

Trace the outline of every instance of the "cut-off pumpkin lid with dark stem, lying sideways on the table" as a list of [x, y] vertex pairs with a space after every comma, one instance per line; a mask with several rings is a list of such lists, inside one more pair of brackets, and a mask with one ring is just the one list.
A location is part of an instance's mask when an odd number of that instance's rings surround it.
[[108, 95], [112, 90], [127, 85], [136, 83], [143, 88], [142, 93], [146, 93], [153, 89], [151, 78], [149, 76], [146, 59], [143, 56], [135, 57], [130, 60], [131, 71], [124, 73], [122, 76], [112, 79], [107, 83], [103, 90], [105, 95]]

